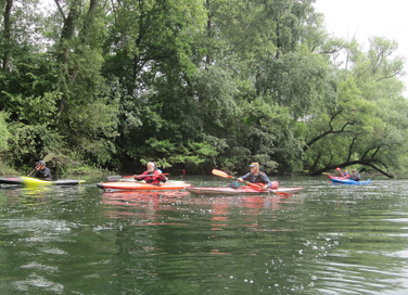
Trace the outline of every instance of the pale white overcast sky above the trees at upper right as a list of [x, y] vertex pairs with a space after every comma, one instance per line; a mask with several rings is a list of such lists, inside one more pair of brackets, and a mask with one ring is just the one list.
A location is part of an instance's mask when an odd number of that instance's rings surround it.
[[[336, 37], [350, 40], [356, 36], [360, 44], [368, 44], [370, 37], [397, 41], [397, 54], [406, 59], [408, 73], [408, 0], [316, 0], [315, 8]], [[408, 74], [403, 80], [408, 88]]]

